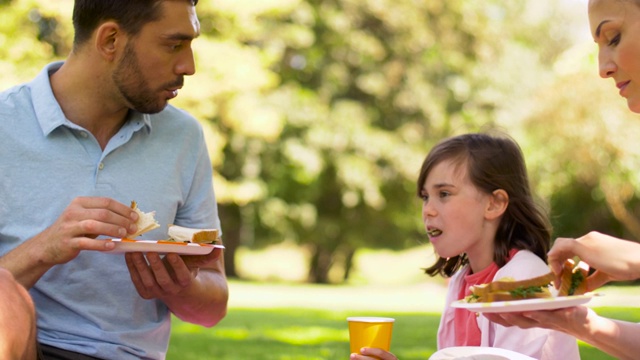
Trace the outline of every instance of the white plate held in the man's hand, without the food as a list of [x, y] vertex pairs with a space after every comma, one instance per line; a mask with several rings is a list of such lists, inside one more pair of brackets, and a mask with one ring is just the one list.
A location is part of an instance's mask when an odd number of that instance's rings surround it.
[[108, 239], [116, 245], [115, 249], [105, 251], [108, 254], [127, 252], [157, 252], [160, 254], [176, 253], [180, 255], [206, 255], [213, 249], [224, 249], [224, 245], [194, 244], [162, 240]]

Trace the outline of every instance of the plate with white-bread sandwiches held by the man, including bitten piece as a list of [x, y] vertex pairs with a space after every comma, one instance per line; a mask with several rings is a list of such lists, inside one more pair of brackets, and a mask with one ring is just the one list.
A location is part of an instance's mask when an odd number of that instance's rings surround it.
[[196, 229], [178, 225], [169, 225], [168, 238], [163, 240], [137, 240], [136, 237], [160, 227], [155, 219], [155, 211], [142, 212], [135, 201], [131, 208], [138, 213], [138, 231], [128, 238], [108, 239], [115, 248], [108, 254], [127, 252], [156, 252], [160, 254], [176, 253], [181, 255], [206, 255], [213, 249], [224, 249], [218, 229]]

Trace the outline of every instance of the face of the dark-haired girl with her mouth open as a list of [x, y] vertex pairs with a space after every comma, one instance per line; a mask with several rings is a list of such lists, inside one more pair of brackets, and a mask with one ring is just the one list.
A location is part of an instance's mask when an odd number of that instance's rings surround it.
[[492, 195], [471, 183], [466, 163], [445, 160], [435, 165], [421, 197], [422, 221], [440, 257], [466, 253], [474, 271], [491, 264], [497, 225], [486, 214]]

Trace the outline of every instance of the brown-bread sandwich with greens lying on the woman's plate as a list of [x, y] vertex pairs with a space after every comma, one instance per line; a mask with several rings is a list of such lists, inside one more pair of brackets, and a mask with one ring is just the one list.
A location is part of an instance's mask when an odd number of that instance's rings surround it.
[[469, 287], [467, 302], [494, 302], [551, 297], [549, 286], [555, 276], [552, 272], [525, 280], [502, 278], [487, 284]]

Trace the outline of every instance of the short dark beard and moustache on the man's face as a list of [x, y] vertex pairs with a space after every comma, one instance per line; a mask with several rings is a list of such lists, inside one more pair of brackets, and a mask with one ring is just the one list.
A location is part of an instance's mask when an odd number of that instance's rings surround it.
[[182, 86], [183, 77], [154, 91], [142, 74], [142, 69], [131, 42], [127, 43], [122, 59], [112, 75], [113, 82], [120, 94], [129, 102], [129, 106], [144, 114], [155, 114], [167, 106], [167, 100], [161, 98], [164, 89]]

